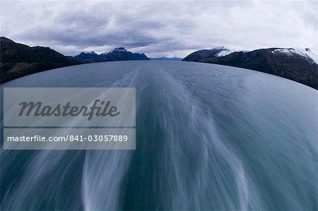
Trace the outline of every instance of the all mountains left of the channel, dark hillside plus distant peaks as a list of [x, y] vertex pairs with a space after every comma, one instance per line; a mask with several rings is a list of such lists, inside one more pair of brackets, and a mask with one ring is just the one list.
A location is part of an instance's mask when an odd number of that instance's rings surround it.
[[134, 54], [123, 47], [95, 54], [82, 52], [64, 56], [49, 47], [30, 47], [0, 37], [0, 83], [54, 68], [101, 61], [149, 60], [145, 54]]

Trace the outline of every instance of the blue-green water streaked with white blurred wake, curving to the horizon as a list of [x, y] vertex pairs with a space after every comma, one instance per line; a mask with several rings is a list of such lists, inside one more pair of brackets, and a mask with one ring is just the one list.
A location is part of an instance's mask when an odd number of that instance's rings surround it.
[[136, 87], [136, 150], [1, 150], [1, 210], [317, 210], [318, 92], [256, 71], [121, 61], [3, 87]]

